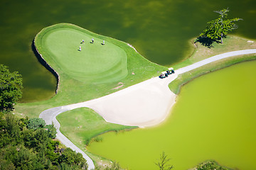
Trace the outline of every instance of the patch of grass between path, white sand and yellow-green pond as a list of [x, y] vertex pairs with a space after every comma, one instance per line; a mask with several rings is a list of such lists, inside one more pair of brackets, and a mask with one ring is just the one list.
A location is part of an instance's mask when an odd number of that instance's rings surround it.
[[104, 132], [119, 132], [124, 129], [137, 128], [107, 123], [90, 108], [77, 108], [61, 113], [57, 116], [57, 120], [61, 123], [60, 131], [80, 148], [89, 145], [91, 140], [92, 142], [101, 142], [102, 138], [97, 137], [97, 135]]

